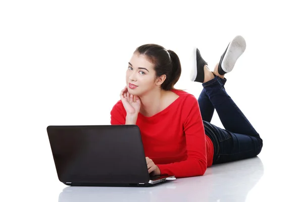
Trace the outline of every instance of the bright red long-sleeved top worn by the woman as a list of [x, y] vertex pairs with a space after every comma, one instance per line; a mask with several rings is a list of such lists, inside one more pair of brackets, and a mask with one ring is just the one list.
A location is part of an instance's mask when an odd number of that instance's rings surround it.
[[[182, 90], [171, 90], [179, 97], [151, 117], [138, 114], [145, 156], [161, 174], [176, 177], [204, 175], [213, 164], [214, 146], [205, 134], [197, 99]], [[126, 111], [119, 100], [111, 111], [111, 125], [124, 125]]]

